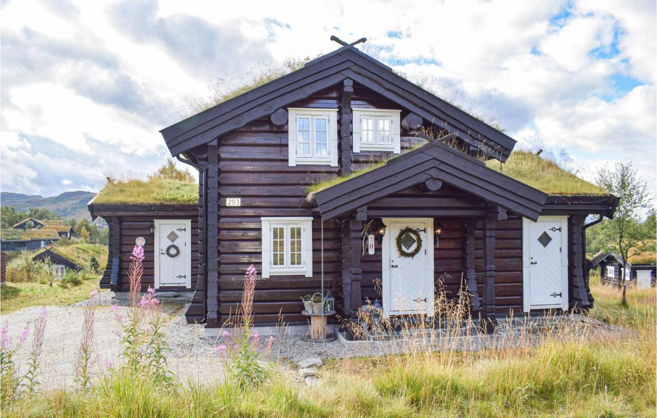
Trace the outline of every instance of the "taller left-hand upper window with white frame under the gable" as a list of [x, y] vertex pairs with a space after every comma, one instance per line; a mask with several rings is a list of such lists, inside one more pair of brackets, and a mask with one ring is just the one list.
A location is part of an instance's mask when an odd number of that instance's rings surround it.
[[337, 109], [288, 108], [288, 162], [338, 166]]

